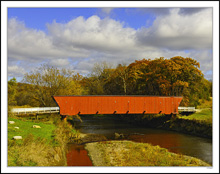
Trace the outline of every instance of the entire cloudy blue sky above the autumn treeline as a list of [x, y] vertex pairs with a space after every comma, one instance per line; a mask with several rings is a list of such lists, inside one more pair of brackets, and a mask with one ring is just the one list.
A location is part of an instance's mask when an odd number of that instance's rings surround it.
[[212, 8], [8, 8], [8, 79], [41, 64], [82, 75], [97, 62], [191, 57], [212, 78]]

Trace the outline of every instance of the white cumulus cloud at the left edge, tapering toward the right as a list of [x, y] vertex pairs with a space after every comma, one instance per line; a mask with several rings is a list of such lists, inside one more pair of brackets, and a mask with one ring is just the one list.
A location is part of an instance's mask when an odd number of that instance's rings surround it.
[[[74, 49], [60, 48], [45, 32], [26, 28], [24, 23], [12, 18], [8, 22], [8, 56], [19, 60], [39, 61], [68, 57]], [[72, 57], [87, 56], [79, 49]]]

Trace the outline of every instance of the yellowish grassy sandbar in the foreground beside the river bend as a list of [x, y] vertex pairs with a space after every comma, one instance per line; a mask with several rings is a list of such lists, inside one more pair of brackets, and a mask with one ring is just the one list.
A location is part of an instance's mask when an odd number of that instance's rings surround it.
[[106, 141], [88, 143], [85, 148], [94, 166], [210, 166], [197, 158], [147, 143]]

